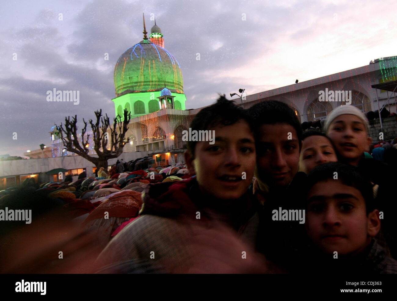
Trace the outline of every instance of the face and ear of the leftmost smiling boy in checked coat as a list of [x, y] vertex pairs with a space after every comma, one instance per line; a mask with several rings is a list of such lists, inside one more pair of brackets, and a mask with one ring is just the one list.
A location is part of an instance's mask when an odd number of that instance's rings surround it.
[[205, 193], [218, 199], [238, 199], [247, 191], [254, 175], [254, 135], [243, 120], [209, 130], [215, 131], [214, 144], [199, 141], [194, 158], [185, 152], [189, 172], [196, 174]]

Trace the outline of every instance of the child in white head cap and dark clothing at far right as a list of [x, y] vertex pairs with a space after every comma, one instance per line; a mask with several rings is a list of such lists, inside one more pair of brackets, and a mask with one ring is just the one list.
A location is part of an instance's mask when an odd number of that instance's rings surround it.
[[392, 193], [396, 177], [384, 162], [364, 158], [364, 152], [369, 150], [372, 141], [368, 135], [369, 123], [366, 116], [355, 106], [339, 106], [327, 117], [324, 129], [335, 145], [338, 161], [356, 166], [372, 184], [379, 186], [374, 192], [377, 206], [384, 213], [382, 231], [393, 258], [397, 258], [397, 224], [392, 217], [397, 210]]

